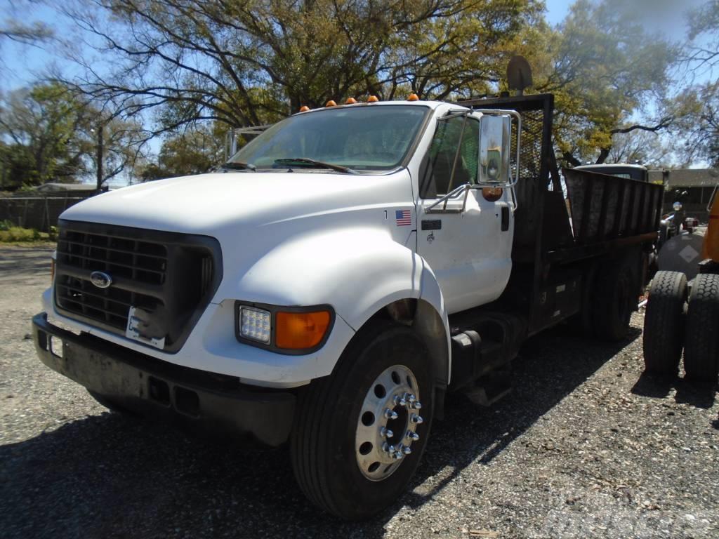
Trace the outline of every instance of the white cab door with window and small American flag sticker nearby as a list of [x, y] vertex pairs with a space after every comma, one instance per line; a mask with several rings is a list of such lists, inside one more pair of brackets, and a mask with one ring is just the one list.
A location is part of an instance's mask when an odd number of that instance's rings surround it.
[[513, 203], [507, 190], [493, 201], [472, 189], [466, 201], [462, 192], [434, 208], [441, 213], [428, 213], [453, 188], [477, 184], [479, 137], [475, 115], [438, 121], [420, 172], [417, 252], [439, 280], [449, 313], [498, 298], [511, 270]]

